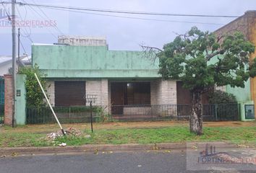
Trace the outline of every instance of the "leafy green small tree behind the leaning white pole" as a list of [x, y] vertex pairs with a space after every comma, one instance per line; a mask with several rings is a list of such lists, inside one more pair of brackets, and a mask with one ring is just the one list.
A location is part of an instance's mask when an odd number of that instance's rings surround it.
[[26, 106], [27, 107], [41, 107], [45, 106], [46, 102], [44, 102], [43, 92], [40, 89], [38, 81], [35, 79], [35, 75], [38, 75], [38, 78], [43, 86], [43, 89], [46, 89], [46, 80], [43, 79], [42, 74], [39, 71], [39, 67], [35, 64], [33, 68], [24, 67], [21, 68], [19, 74], [26, 75], [25, 88], [26, 88]]

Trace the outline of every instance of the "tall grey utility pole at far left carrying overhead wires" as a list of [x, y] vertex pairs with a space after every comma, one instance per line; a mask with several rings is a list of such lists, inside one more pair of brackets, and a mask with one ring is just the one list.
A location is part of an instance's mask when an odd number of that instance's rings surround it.
[[15, 3], [12, 0], [12, 127], [16, 126], [16, 28], [15, 28]]

